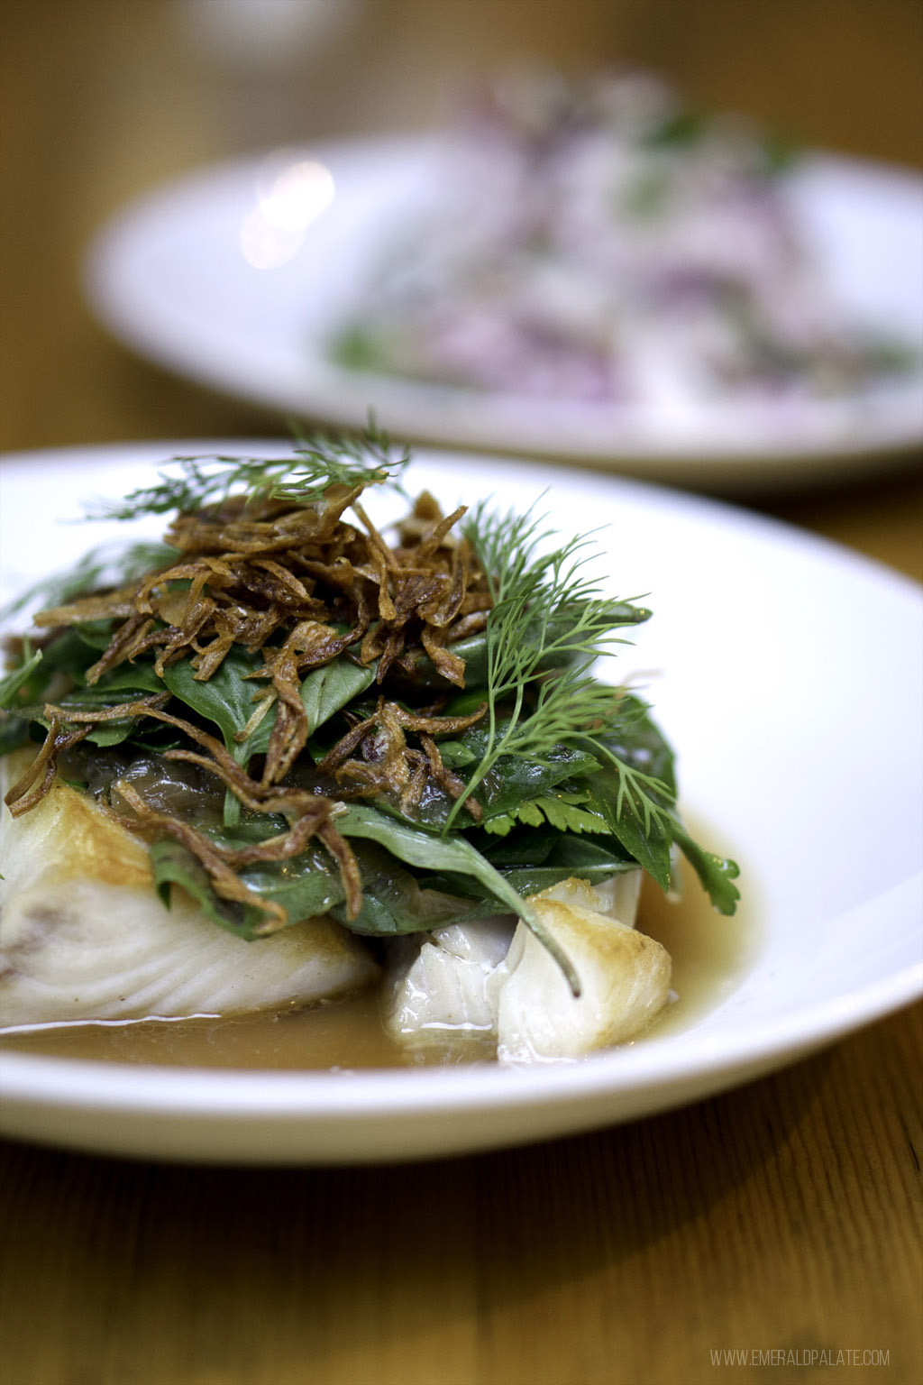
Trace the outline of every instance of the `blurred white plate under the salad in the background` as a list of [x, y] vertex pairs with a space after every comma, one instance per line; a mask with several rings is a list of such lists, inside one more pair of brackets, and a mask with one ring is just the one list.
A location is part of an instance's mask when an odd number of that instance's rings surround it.
[[[255, 269], [241, 251], [242, 229], [252, 235], [266, 208], [267, 166], [299, 157], [332, 173], [333, 201], [303, 240], [302, 231], [260, 223], [271, 241], [262, 251], [300, 248], [274, 269]], [[677, 421], [663, 410], [338, 368], [324, 356], [328, 330], [394, 220], [412, 217], [437, 186], [441, 159], [430, 138], [382, 138], [192, 173], [101, 231], [87, 260], [90, 302], [116, 337], [183, 375], [339, 425], [363, 425], [371, 406], [396, 436], [443, 446], [578, 457], [655, 481], [738, 490], [839, 479], [886, 460], [906, 463], [923, 446], [919, 371], [861, 396], [805, 403], [797, 416], [703, 404]], [[329, 191], [322, 176], [316, 190], [321, 205]], [[815, 158], [793, 176], [790, 197], [836, 301], [923, 346], [923, 180]]]

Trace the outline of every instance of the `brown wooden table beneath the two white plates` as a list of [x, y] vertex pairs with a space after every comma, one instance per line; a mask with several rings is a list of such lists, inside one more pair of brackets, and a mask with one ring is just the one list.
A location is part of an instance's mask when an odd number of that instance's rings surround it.
[[[902, 0], [700, 0], [682, 22], [679, 6], [572, 4], [566, 33], [559, 10], [372, 0], [329, 62], [285, 90], [263, 75], [248, 107], [239, 66], [184, 46], [167, 0], [4, 0], [3, 446], [266, 432], [104, 337], [77, 291], [87, 235], [295, 116], [318, 133], [429, 119], [450, 57], [519, 51], [523, 11], [533, 51], [627, 53], [818, 143], [919, 161], [920, 17]], [[919, 468], [751, 503], [923, 575]], [[1, 1145], [4, 1378], [917, 1381], [922, 1024], [894, 1015], [688, 1109], [448, 1162], [209, 1169]]]

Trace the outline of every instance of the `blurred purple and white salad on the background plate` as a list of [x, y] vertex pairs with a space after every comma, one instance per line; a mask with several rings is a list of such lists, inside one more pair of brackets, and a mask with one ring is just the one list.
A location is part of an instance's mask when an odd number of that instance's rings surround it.
[[917, 346], [829, 291], [798, 157], [648, 75], [530, 76], [470, 101], [453, 177], [396, 226], [329, 339], [358, 371], [660, 406], [855, 393]]

